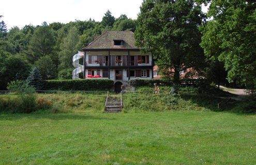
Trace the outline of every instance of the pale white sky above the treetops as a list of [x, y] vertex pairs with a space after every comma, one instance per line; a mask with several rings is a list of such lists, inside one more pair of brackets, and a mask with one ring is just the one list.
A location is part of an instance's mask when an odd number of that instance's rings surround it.
[[[7, 0], [1, 2], [0, 21], [4, 20], [7, 29], [25, 25], [41, 25], [53, 22], [86, 21], [90, 18], [101, 21], [104, 13], [110, 10], [115, 18], [126, 14], [137, 19], [143, 0]], [[206, 9], [207, 11], [207, 9]], [[206, 12], [204, 11], [204, 12]]]

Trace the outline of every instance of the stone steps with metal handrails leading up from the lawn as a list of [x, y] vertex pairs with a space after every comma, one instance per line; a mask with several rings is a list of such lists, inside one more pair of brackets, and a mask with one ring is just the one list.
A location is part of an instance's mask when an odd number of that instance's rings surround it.
[[122, 112], [121, 99], [117, 96], [109, 96], [105, 106], [105, 112]]

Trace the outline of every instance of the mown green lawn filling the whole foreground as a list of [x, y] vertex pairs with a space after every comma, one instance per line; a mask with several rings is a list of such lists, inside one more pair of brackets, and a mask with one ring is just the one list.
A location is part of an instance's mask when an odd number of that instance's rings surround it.
[[0, 164], [256, 164], [256, 116], [2, 114]]

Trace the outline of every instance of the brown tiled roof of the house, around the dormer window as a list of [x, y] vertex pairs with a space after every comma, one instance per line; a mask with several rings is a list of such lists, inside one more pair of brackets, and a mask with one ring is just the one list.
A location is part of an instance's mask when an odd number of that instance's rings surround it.
[[[134, 46], [134, 37], [132, 31], [105, 31], [93, 42], [89, 43], [83, 50], [97, 49], [138, 49]], [[113, 46], [114, 40], [123, 40], [123, 46]]]

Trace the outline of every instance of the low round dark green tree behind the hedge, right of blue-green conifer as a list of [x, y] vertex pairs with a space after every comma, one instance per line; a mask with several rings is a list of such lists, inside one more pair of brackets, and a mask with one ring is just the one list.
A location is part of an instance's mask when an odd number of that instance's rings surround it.
[[54, 79], [57, 77], [57, 68], [51, 57], [46, 55], [35, 62], [35, 67], [41, 73], [42, 79]]

